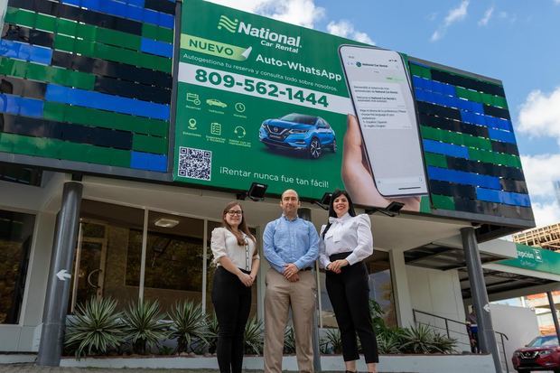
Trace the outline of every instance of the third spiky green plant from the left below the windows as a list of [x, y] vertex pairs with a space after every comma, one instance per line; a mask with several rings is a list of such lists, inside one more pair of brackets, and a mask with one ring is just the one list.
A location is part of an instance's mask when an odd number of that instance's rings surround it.
[[208, 344], [207, 338], [210, 335], [201, 303], [195, 304], [192, 301], [176, 303], [169, 312], [169, 317], [173, 321], [170, 337], [177, 339], [177, 353], [188, 351], [193, 339]]

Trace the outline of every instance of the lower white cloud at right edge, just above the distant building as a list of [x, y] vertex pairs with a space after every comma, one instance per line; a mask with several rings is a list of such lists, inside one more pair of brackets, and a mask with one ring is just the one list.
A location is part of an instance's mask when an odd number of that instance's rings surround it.
[[560, 180], [560, 154], [521, 155], [531, 199], [553, 199], [553, 181]]

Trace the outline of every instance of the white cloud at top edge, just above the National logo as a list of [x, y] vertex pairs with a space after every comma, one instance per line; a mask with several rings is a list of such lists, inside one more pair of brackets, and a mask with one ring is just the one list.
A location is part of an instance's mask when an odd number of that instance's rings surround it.
[[266, 15], [278, 21], [312, 27], [320, 20], [325, 10], [315, 5], [314, 0], [208, 0], [246, 12]]

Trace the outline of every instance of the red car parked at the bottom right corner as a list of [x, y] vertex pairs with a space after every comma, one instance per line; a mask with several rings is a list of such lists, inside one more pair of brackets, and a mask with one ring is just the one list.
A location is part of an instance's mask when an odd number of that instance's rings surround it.
[[533, 370], [552, 370], [560, 373], [560, 346], [555, 334], [543, 335], [518, 349], [511, 358], [519, 373]]

